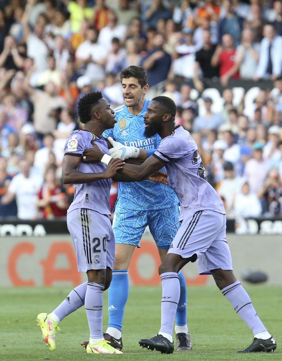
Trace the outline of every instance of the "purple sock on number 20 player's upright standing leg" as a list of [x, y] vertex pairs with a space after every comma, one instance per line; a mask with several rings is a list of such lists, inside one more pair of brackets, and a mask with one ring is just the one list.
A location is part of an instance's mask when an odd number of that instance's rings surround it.
[[87, 282], [85, 310], [90, 330], [90, 338], [103, 338], [103, 284]]

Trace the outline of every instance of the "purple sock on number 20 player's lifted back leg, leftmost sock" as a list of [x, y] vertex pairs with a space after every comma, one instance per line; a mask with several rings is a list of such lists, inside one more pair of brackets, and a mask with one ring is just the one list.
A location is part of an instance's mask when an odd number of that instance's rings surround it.
[[84, 305], [87, 282], [74, 288], [64, 301], [53, 311], [60, 321]]

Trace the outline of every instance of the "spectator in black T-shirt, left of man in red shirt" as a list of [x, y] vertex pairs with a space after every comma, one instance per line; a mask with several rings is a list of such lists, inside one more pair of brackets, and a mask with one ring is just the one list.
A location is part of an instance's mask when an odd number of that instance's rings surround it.
[[209, 30], [203, 31], [202, 38], [204, 45], [202, 49], [196, 52], [196, 61], [193, 70], [194, 86], [199, 92], [204, 90], [204, 83], [200, 79], [213, 79], [219, 76], [219, 67], [211, 65], [216, 46], [210, 42]]

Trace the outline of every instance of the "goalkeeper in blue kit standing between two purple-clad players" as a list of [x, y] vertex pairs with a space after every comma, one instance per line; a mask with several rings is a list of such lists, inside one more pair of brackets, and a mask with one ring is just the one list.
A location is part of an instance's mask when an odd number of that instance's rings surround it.
[[[114, 109], [117, 123], [113, 129], [104, 131], [103, 136], [115, 147], [110, 149], [110, 154], [115, 152], [111, 154], [114, 158], [137, 158], [140, 149], [145, 149], [149, 157], [158, 148], [161, 138], [158, 134], [150, 138], [144, 136], [143, 115], [149, 103], [145, 99], [149, 87], [146, 70], [129, 66], [121, 71], [120, 80], [125, 104]], [[121, 327], [129, 293], [128, 267], [133, 251], [136, 246], [140, 247], [141, 236], [149, 226], [163, 261], [176, 233], [178, 216], [176, 194], [165, 184], [148, 180], [119, 183], [113, 219], [115, 264], [108, 292], [108, 328], [104, 334], [116, 349], [123, 347]], [[186, 321], [186, 285], [182, 271], [178, 275], [181, 292], [175, 322], [176, 349], [188, 351], [192, 350], [192, 344]]]

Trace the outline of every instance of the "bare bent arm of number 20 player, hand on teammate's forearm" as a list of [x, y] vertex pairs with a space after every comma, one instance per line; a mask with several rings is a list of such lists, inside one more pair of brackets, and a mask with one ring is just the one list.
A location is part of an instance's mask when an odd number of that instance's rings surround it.
[[112, 159], [107, 168], [99, 173], [82, 173], [77, 170], [81, 157], [65, 155], [63, 159], [62, 178], [64, 184], [78, 184], [101, 181], [112, 178], [118, 170], [123, 168], [124, 162], [117, 158]]

